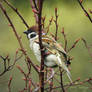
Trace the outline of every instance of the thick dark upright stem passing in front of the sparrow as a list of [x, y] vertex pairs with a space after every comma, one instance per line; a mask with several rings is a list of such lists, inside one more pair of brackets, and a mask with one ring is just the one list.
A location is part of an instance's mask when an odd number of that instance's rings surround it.
[[44, 52], [43, 52], [43, 45], [42, 45], [42, 23], [41, 23], [41, 17], [42, 17], [42, 7], [43, 7], [43, 1], [39, 0], [39, 14], [38, 14], [38, 31], [39, 31], [39, 45], [40, 45], [40, 51], [41, 51], [41, 64], [40, 64], [40, 74], [39, 74], [39, 80], [40, 80], [40, 91], [44, 92]]

